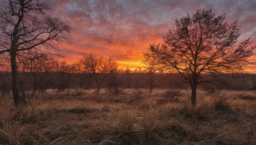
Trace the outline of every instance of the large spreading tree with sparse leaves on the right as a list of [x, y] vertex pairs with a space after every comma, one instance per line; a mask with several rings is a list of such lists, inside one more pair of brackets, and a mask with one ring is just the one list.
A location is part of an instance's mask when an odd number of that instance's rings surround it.
[[197, 10], [175, 20], [175, 27], [163, 36], [162, 45], [150, 45], [144, 62], [179, 72], [191, 86], [191, 104], [196, 105], [196, 88], [209, 83], [202, 74], [242, 71], [255, 50], [250, 38], [237, 43], [241, 28], [228, 24], [225, 15], [216, 17], [212, 10]]

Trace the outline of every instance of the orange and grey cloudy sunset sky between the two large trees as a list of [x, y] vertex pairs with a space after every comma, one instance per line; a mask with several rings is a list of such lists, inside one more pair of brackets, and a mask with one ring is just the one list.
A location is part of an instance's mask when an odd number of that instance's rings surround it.
[[[240, 39], [256, 39], [256, 1], [170, 0], [53, 0], [54, 13], [74, 31], [70, 45], [61, 45], [69, 63], [85, 53], [113, 57], [120, 67], [141, 66], [150, 43], [161, 43], [175, 18], [211, 8], [226, 13], [227, 22], [238, 20]], [[253, 43], [256, 44], [255, 42]], [[252, 62], [256, 65], [256, 61]]]

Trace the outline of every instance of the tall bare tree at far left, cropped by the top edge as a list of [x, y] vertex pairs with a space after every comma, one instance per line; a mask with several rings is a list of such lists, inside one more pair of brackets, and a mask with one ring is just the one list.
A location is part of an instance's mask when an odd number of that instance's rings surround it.
[[[17, 54], [31, 49], [51, 49], [67, 40], [70, 27], [58, 18], [47, 17], [49, 3], [42, 0], [8, 0], [0, 13], [0, 54], [9, 53], [15, 106], [25, 104], [20, 93]], [[44, 48], [43, 48], [44, 46]]]

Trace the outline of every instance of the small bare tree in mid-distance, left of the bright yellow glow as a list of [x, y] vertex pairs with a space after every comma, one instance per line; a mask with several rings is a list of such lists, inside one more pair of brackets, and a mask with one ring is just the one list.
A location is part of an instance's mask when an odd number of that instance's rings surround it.
[[84, 70], [93, 74], [93, 79], [97, 85], [97, 93], [108, 78], [108, 74], [117, 67], [116, 62], [111, 57], [100, 57], [93, 53], [84, 55], [80, 62]]

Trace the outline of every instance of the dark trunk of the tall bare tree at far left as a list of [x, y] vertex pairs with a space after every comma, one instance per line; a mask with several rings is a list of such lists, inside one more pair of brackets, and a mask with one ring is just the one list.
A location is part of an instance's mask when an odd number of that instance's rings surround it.
[[11, 53], [11, 65], [12, 65], [12, 93], [13, 93], [13, 102], [16, 107], [20, 105], [25, 105], [26, 100], [25, 96], [20, 93], [19, 87], [19, 76], [17, 70], [17, 62], [16, 62], [16, 53]]

